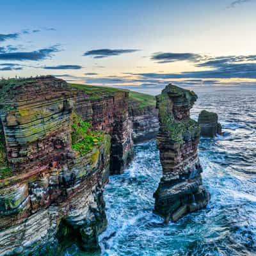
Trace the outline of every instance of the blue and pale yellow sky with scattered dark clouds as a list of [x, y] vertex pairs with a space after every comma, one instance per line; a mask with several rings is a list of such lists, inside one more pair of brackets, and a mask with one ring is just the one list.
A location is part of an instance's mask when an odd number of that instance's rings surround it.
[[1, 0], [0, 77], [256, 84], [256, 0]]

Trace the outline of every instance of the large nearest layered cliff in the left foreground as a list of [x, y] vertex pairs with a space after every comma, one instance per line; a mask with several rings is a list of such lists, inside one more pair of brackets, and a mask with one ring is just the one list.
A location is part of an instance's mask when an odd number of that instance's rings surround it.
[[65, 81], [0, 85], [0, 255], [61, 255], [72, 243], [95, 250], [107, 223], [110, 136], [77, 117]]

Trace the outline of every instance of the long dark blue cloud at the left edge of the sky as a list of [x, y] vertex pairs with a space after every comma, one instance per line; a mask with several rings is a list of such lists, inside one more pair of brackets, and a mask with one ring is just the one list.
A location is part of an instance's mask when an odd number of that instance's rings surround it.
[[40, 61], [51, 57], [54, 52], [60, 51], [57, 46], [40, 49], [32, 52], [4, 52], [0, 53], [0, 60], [12, 60], [12, 61]]

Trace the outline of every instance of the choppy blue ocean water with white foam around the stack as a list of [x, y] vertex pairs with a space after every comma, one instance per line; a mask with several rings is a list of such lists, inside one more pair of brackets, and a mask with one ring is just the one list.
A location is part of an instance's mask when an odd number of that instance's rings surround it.
[[161, 177], [155, 141], [135, 146], [136, 157], [113, 175], [104, 197], [108, 228], [100, 235], [101, 255], [256, 255], [256, 93], [198, 92], [191, 111], [218, 113], [223, 136], [200, 140], [209, 205], [177, 223], [152, 213]]

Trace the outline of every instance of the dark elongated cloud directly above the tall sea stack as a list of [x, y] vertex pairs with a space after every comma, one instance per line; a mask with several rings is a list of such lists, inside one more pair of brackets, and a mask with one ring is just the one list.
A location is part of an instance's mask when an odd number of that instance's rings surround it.
[[195, 54], [190, 52], [156, 52], [151, 56], [151, 60], [157, 61], [157, 63], [170, 63], [174, 61], [200, 61], [204, 60], [205, 56], [201, 54]]

